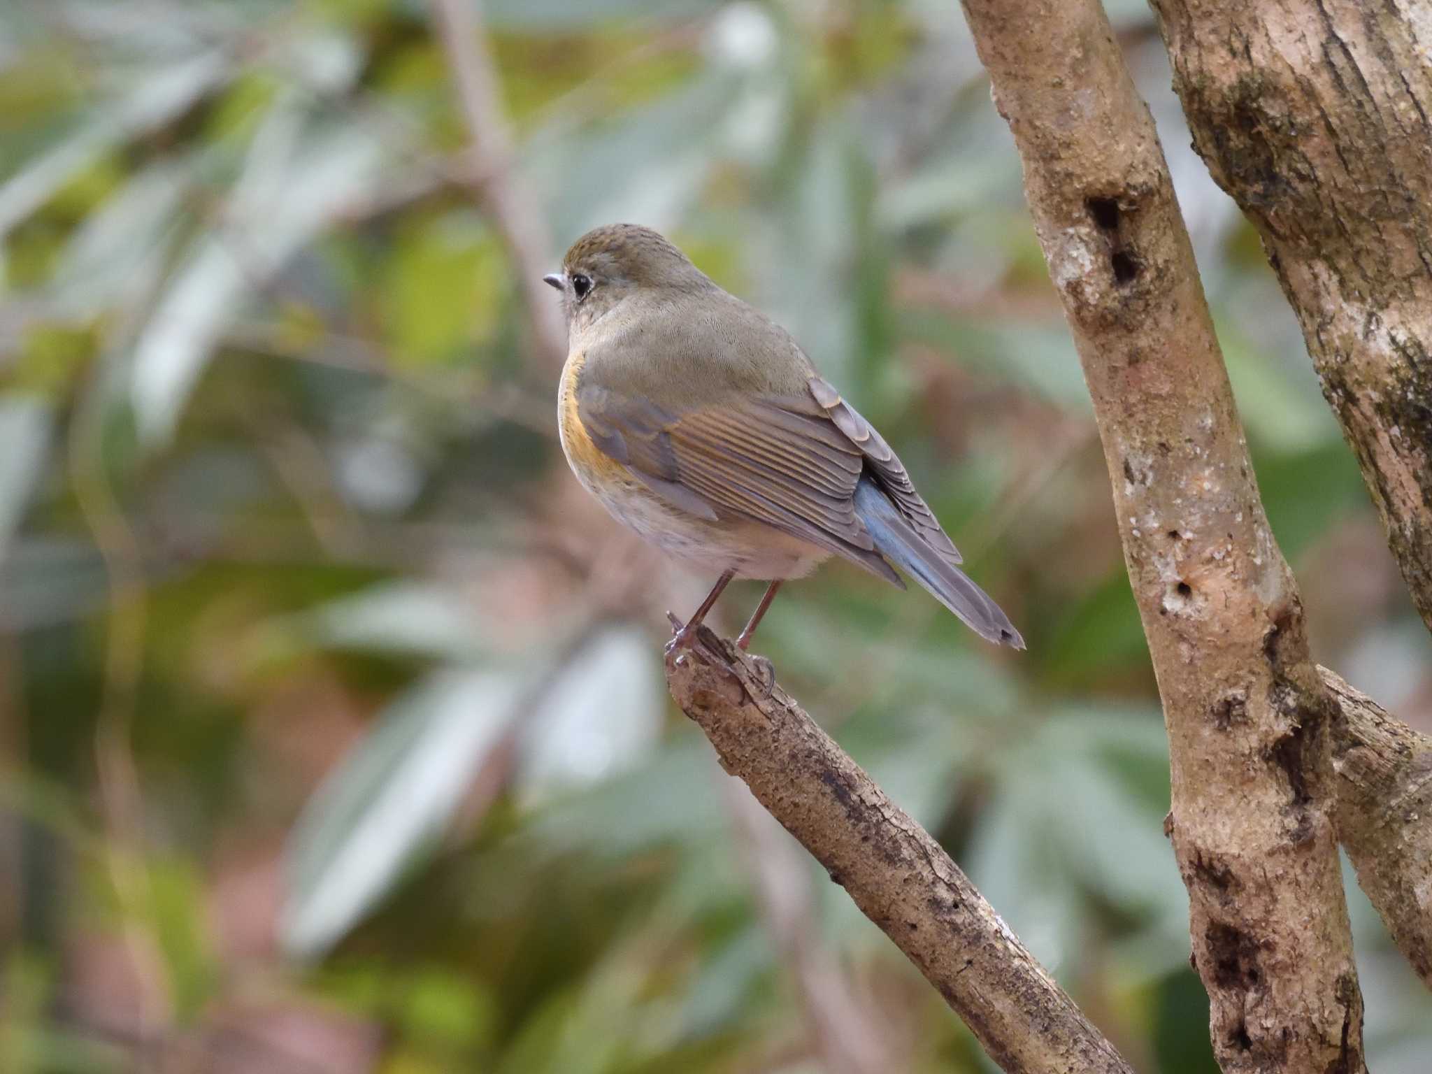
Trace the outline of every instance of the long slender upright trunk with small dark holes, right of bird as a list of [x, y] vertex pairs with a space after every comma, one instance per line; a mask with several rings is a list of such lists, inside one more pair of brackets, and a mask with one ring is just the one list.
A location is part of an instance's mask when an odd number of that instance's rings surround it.
[[1104, 444], [1227, 1074], [1360, 1071], [1330, 725], [1153, 120], [1097, 0], [964, 0]]

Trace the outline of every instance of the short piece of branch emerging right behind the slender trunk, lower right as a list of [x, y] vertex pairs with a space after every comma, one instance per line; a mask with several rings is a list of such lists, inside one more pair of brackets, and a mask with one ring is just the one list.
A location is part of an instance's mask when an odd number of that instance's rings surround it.
[[1317, 670], [1339, 705], [1337, 836], [1398, 948], [1432, 988], [1432, 740]]

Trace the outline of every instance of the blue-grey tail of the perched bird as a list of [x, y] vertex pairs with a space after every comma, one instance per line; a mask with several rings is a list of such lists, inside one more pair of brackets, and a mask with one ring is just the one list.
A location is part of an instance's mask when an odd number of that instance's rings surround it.
[[911, 574], [928, 589], [935, 600], [948, 607], [979, 637], [995, 644], [1024, 649], [1024, 639], [1000, 610], [990, 594], [971, 581], [962, 570], [929, 547], [914, 527], [905, 521], [869, 475], [862, 474], [855, 485], [855, 514], [871, 537], [875, 548], [891, 563]]

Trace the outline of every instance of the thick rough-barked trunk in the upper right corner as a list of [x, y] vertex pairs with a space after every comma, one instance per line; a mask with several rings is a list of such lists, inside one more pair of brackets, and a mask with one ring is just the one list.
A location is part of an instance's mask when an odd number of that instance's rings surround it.
[[1432, 629], [1432, 6], [1153, 6], [1194, 149], [1263, 236]]

